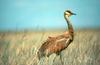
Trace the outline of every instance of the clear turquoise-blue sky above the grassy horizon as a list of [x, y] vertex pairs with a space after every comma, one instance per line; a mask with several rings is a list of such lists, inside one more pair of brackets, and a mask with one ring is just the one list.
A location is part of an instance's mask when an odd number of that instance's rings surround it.
[[0, 30], [67, 28], [65, 10], [74, 28], [100, 28], [99, 0], [0, 0]]

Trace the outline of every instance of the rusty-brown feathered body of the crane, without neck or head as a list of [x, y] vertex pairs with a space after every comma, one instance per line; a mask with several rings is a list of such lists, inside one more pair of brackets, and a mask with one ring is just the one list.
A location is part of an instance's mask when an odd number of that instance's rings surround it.
[[[48, 37], [44, 44], [40, 47], [38, 57], [51, 55], [52, 53], [59, 54], [60, 51], [64, 50], [71, 42], [71, 37], [68, 33], [56, 37]], [[67, 43], [67, 44], [66, 44]]]

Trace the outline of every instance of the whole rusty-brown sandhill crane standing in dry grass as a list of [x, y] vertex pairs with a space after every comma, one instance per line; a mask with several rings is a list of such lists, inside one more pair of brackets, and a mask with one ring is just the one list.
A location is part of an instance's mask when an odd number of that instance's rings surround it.
[[[71, 15], [75, 15], [70, 10], [64, 12], [64, 18], [68, 24], [68, 31], [64, 32], [62, 35], [55, 37], [48, 37], [48, 39], [42, 44], [38, 51], [39, 59], [43, 56], [49, 57], [51, 54], [56, 53], [60, 55], [60, 52], [68, 47], [68, 45], [73, 41], [74, 30], [73, 26], [69, 20]], [[60, 55], [61, 58], [61, 55]]]

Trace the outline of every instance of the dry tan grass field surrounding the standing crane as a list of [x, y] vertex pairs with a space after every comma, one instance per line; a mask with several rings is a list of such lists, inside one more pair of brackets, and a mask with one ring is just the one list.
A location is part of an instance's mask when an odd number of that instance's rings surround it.
[[[37, 65], [37, 50], [48, 36], [63, 32], [1, 32], [0, 65]], [[42, 58], [39, 65], [62, 65], [59, 56]], [[64, 65], [100, 65], [100, 30], [75, 32], [74, 41], [61, 52]]]

